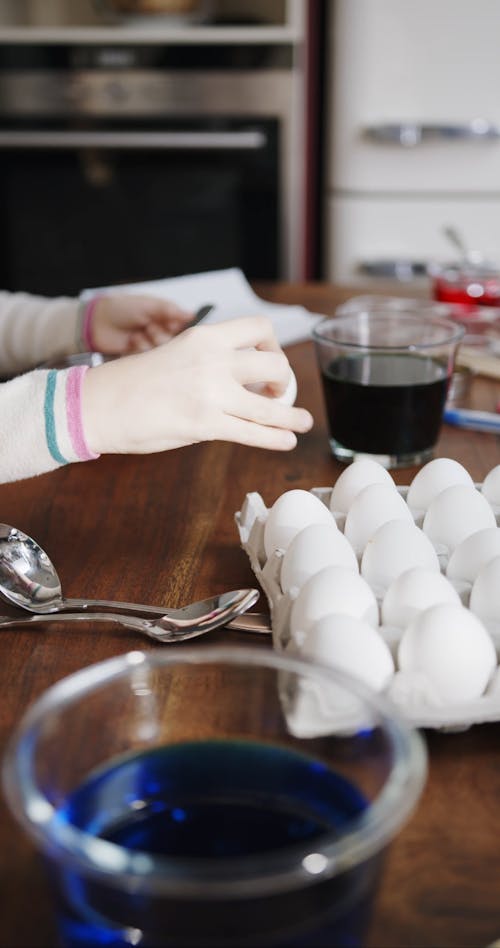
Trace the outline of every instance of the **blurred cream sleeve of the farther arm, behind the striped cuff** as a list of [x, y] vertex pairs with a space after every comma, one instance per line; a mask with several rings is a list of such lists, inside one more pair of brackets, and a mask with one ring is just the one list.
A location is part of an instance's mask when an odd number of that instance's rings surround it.
[[0, 292], [0, 377], [78, 352], [83, 311], [67, 296]]

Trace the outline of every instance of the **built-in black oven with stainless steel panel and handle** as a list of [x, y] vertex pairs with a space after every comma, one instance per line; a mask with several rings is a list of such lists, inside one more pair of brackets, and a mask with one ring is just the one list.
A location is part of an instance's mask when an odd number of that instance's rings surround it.
[[289, 70], [273, 47], [0, 46], [0, 286], [290, 275]]

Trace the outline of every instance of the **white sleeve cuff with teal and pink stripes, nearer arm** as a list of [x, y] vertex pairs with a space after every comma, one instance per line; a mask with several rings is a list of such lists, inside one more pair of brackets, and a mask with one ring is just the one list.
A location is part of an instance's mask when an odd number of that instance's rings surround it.
[[98, 457], [82, 424], [87, 368], [39, 369], [0, 384], [0, 483]]

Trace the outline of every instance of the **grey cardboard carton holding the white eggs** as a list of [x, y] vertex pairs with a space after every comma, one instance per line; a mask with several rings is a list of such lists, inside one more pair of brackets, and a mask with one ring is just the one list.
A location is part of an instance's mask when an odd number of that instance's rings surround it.
[[[481, 485], [476, 484], [480, 489]], [[406, 500], [408, 486], [398, 486], [397, 490]], [[330, 507], [332, 488], [314, 487], [310, 493], [321, 500], [326, 507]], [[252, 570], [263, 590], [268, 604], [271, 618], [271, 632], [273, 646], [277, 651], [297, 655], [297, 648], [290, 640], [289, 621], [294, 597], [290, 593], [283, 593], [280, 585], [281, 563], [283, 551], [276, 550], [267, 558], [264, 548], [264, 526], [269, 508], [259, 493], [251, 492], [245, 496], [241, 510], [235, 513], [235, 521], [239, 532], [242, 548], [245, 550]], [[500, 510], [494, 510], [497, 526], [500, 526]], [[333, 514], [337, 526], [343, 531], [345, 516]], [[417, 525], [419, 525], [417, 523]], [[436, 550], [440, 561], [441, 571], [446, 570], [448, 555], [444, 549]], [[465, 607], [468, 604], [470, 587], [467, 584], [454, 584]], [[381, 603], [380, 595], [374, 590], [377, 601]], [[401, 629], [378, 626], [378, 631], [388, 644], [393, 657], [396, 657]], [[490, 683], [481, 697], [468, 702], [443, 705], [429, 695], [429, 685], [423, 676], [417, 673], [402, 673], [397, 670], [384, 694], [398, 707], [402, 716], [414, 727], [431, 728], [442, 731], [466, 730], [474, 724], [500, 721], [500, 626], [488, 626], [497, 653], [497, 668]], [[332, 709], [328, 708], [328, 699], [325, 695], [314, 693], [314, 689], [305, 683], [300, 693], [290, 687], [285, 676], [281, 698], [287, 710], [287, 720], [291, 729], [300, 736], [326, 732], [331, 726]], [[344, 720], [345, 717], [345, 720]], [[352, 715], [340, 715], [339, 727], [349, 730], [348, 722]], [[347, 723], [346, 723], [347, 722]]]

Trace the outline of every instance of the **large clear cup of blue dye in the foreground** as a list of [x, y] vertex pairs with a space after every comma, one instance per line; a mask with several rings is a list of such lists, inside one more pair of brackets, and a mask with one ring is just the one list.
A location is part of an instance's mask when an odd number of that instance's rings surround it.
[[363, 943], [425, 774], [419, 734], [361, 682], [272, 649], [171, 646], [45, 692], [4, 786], [62, 946], [313, 948]]

